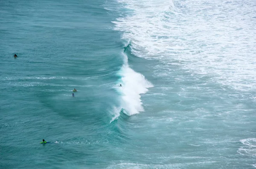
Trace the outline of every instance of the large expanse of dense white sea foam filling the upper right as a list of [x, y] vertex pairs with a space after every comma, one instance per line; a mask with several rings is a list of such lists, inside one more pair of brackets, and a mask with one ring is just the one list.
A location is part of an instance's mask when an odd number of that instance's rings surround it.
[[256, 89], [254, 0], [117, 1], [132, 11], [113, 23], [131, 39], [134, 55], [166, 64], [183, 61], [183, 69], [211, 75], [215, 82]]

